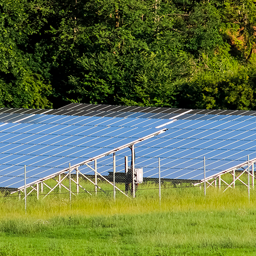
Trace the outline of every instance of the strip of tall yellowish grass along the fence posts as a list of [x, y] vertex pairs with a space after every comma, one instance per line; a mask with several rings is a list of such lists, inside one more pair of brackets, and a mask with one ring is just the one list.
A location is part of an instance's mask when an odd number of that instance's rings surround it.
[[[256, 190], [256, 189], [255, 189]], [[109, 194], [98, 192], [97, 196], [80, 193], [50, 194], [45, 199], [40, 195], [36, 199], [33, 194], [27, 198], [27, 213], [25, 214], [24, 200], [18, 197], [0, 198], [0, 219], [31, 217], [48, 219], [55, 216], [109, 216], [115, 214], [142, 214], [152, 211], [198, 211], [225, 209], [253, 209], [256, 207], [256, 191], [250, 191], [250, 202], [246, 187], [228, 189], [223, 193], [215, 187], [207, 189], [206, 197], [199, 187], [162, 188], [161, 204], [158, 197], [157, 185], [150, 184], [146, 189], [137, 191], [136, 198], [126, 198], [119, 191], [114, 201], [112, 191]]]

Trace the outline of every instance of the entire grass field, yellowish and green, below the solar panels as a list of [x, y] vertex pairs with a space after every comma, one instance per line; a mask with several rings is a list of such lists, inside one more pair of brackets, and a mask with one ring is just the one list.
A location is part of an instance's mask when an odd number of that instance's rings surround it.
[[[256, 191], [162, 189], [135, 199], [0, 198], [0, 255], [256, 255]], [[256, 189], [255, 189], [256, 190]]]

